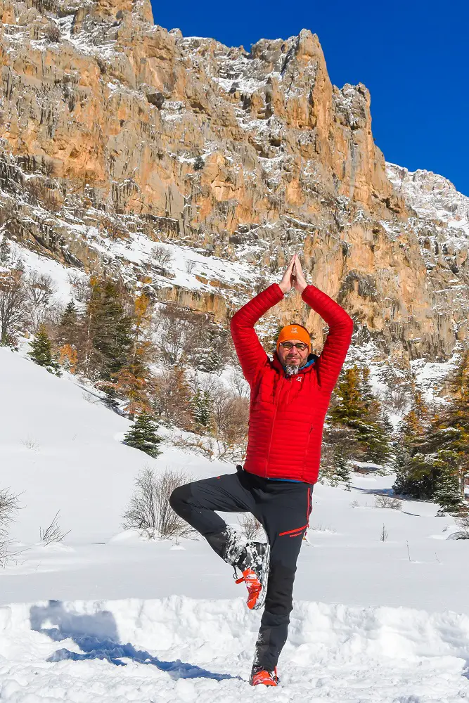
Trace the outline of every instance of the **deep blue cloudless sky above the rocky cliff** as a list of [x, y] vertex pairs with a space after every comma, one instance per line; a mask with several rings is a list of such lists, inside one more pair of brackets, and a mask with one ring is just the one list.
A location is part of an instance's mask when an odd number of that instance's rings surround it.
[[332, 82], [371, 91], [375, 143], [388, 161], [446, 176], [469, 195], [467, 0], [153, 2], [155, 23], [249, 51], [306, 29]]

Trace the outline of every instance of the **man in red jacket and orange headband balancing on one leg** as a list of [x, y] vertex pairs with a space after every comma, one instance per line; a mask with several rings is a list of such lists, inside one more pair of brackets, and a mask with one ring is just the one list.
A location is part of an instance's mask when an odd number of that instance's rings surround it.
[[[315, 356], [307, 330], [288, 325], [278, 335], [270, 361], [254, 325], [293, 286], [328, 324], [326, 344], [321, 356]], [[352, 328], [352, 319], [340, 305], [307, 285], [295, 254], [281, 283], [259, 293], [231, 320], [233, 342], [251, 389], [244, 467], [236, 467], [235, 474], [180, 486], [171, 496], [172, 508], [235, 567], [235, 573], [242, 572], [238, 582], [248, 587], [248, 607], [257, 609], [265, 602], [251, 685], [275, 686], [279, 681], [276, 665], [287, 638], [297, 557], [318, 479], [324, 417]], [[215, 510], [251, 512], [264, 527], [268, 544], [243, 544]]]

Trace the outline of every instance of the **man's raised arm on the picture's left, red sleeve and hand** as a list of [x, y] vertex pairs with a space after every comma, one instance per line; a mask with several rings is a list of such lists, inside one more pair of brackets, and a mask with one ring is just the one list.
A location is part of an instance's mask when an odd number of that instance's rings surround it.
[[243, 305], [231, 318], [231, 336], [244, 377], [248, 383], [252, 382], [256, 369], [268, 359], [255, 333], [254, 325], [267, 310], [280, 302], [283, 295], [292, 287], [294, 264], [295, 257], [292, 257], [281, 282], [269, 285], [269, 288]]

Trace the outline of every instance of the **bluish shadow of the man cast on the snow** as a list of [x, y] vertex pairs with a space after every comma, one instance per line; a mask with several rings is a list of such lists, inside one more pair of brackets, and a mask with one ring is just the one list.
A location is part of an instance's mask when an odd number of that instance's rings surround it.
[[[67, 612], [60, 600], [49, 600], [48, 605], [33, 605], [30, 610], [31, 629], [47, 635], [54, 642], [73, 640], [82, 650], [72, 652], [60, 649], [54, 652], [48, 662], [61, 662], [64, 659], [81, 662], [84, 659], [105, 659], [115, 666], [127, 666], [122, 659], [131, 659], [138, 664], [151, 664], [160, 671], [166, 671], [174, 680], [178, 678], [213, 678], [222, 681], [226, 678], [239, 678], [229, 673], [212, 673], [195, 664], [187, 664], [176, 659], [163, 662], [144, 650], [137, 650], [130, 643], [119, 643], [114, 616], [108, 610], [94, 614]], [[45, 625], [45, 627], [44, 627]]]

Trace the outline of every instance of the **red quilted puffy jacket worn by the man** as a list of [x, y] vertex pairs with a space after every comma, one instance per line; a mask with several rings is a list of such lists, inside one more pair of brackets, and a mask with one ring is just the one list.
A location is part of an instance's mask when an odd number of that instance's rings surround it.
[[277, 283], [259, 293], [231, 319], [231, 334], [251, 387], [248, 451], [244, 468], [269, 478], [315, 483], [319, 474], [324, 417], [352, 337], [344, 309], [314, 285], [302, 298], [329, 325], [319, 359], [287, 376], [278, 356], [270, 361], [254, 325], [283, 298]]

